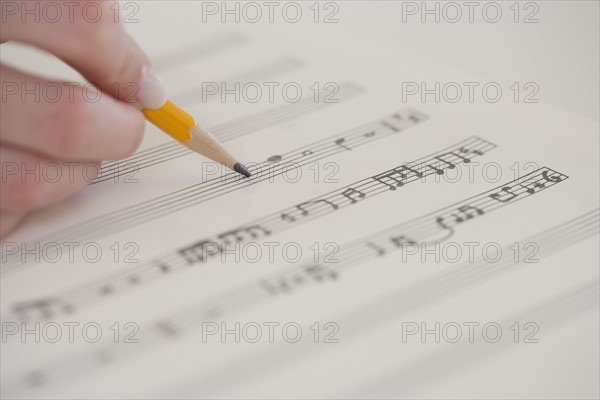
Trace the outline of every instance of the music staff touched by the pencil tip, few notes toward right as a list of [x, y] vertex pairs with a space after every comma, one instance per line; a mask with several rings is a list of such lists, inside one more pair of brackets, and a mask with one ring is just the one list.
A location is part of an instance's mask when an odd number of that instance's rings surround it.
[[[350, 131], [334, 135], [330, 138], [320, 140], [299, 149], [276, 155], [277, 162], [264, 161], [252, 168], [253, 177], [250, 179], [240, 179], [239, 174], [232, 172], [224, 177], [216, 177], [204, 182], [194, 184], [184, 189], [168, 193], [158, 198], [144, 201], [140, 204], [123, 208], [99, 217], [82, 221], [81, 223], [53, 232], [37, 242], [57, 242], [64, 243], [72, 240], [97, 240], [107, 235], [114, 234], [125, 229], [138, 226], [144, 222], [151, 221], [176, 211], [181, 211], [188, 207], [200, 204], [209, 199], [213, 199], [235, 190], [241, 190], [247, 186], [255, 185], [258, 182], [264, 182], [273, 177], [281, 176], [289, 171], [290, 167], [300, 168], [314, 161], [322, 160], [334, 154], [349, 151], [348, 149], [357, 149], [368, 143], [385, 137], [405, 132], [409, 128], [427, 120], [427, 115], [406, 109], [391, 115], [384, 116], [376, 121], [352, 129]], [[382, 122], [385, 122], [384, 125]], [[393, 125], [395, 129], [390, 129], [388, 125]], [[337, 144], [339, 139], [344, 139], [344, 146]], [[450, 155], [443, 155], [445, 157]], [[439, 157], [442, 157], [440, 155]], [[435, 169], [438, 159], [434, 160], [429, 169]], [[448, 167], [451, 164], [446, 163]], [[390, 172], [389, 177], [380, 177], [380, 180], [393, 179], [399, 182], [403, 172]], [[2, 270], [3, 274], [9, 273], [19, 265], [25, 265], [22, 262], [21, 254], [7, 257], [7, 262]]]

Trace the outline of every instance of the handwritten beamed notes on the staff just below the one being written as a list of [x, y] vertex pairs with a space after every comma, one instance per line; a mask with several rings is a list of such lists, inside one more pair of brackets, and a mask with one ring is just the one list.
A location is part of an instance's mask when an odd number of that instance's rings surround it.
[[[349, 141], [349, 143], [352, 142], [354, 140]], [[461, 163], [470, 162], [471, 159], [483, 156], [494, 148], [494, 144], [477, 137], [465, 139], [437, 153], [408, 163], [411, 167], [401, 164], [398, 167], [359, 180], [322, 196], [309, 199], [234, 229], [228, 229], [213, 237], [199, 240], [159, 259], [130, 269], [125, 274], [119, 273], [100, 279], [97, 282], [82, 285], [61, 296], [62, 301], [72, 305], [72, 308], [56, 307], [56, 311], [61, 313], [61, 310], [63, 312], [66, 310], [71, 312], [80, 310], [86, 307], [87, 304], [100, 301], [107, 295], [132, 290], [162, 276], [186, 270], [186, 267], [190, 265], [205, 264], [210, 259], [215, 258], [224, 246], [230, 243], [262, 240], [267, 236], [279, 234], [308, 221], [352, 206], [359, 201], [367, 201], [378, 195], [394, 194], [399, 187], [419, 181], [426, 182], [424, 179], [428, 176], [438, 174], [440, 170], [443, 171]], [[439, 165], [440, 160], [444, 160], [441, 163], [442, 165]], [[445, 224], [453, 226], [452, 224], [458, 223], [457, 221], [461, 218], [464, 220], [472, 218], [471, 214], [473, 214], [473, 211], [468, 209], [468, 206], [462, 206], [453, 210], [448, 216], [444, 215], [438, 218], [442, 218], [444, 221], [448, 220]], [[445, 224], [438, 221], [438, 225], [444, 228], [444, 232], [449, 229], [448, 225]], [[37, 300], [17, 305], [14, 309], [18, 311], [16, 317], [19, 320], [26, 320], [31, 319], [32, 314], [35, 315], [33, 319], [47, 316], [49, 307], [46, 303], [44, 303], [45, 307], [43, 309], [37, 309], [38, 307], [36, 307], [36, 305], [42, 304], [41, 301]], [[51, 300], [49, 299], [47, 302], [51, 302]]]

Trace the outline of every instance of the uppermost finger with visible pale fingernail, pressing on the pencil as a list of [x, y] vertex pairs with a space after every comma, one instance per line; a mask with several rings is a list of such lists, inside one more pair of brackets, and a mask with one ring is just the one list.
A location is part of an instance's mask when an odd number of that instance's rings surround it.
[[[125, 32], [114, 1], [53, 2], [51, 16], [44, 2], [14, 2], [4, 10], [0, 40], [15, 40], [45, 49], [77, 69], [91, 83], [123, 101], [131, 96], [146, 108], [159, 108], [167, 97], [152, 64]], [[27, 3], [30, 3], [27, 5]], [[29, 7], [35, 17], [22, 17]], [[134, 92], [130, 89], [134, 85]]]

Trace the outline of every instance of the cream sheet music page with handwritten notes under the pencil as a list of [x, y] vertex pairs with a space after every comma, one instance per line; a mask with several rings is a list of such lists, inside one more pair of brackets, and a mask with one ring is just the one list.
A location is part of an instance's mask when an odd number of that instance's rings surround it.
[[148, 124], [7, 237], [3, 396], [598, 396], [597, 122], [313, 14], [202, 12], [127, 28], [253, 176]]

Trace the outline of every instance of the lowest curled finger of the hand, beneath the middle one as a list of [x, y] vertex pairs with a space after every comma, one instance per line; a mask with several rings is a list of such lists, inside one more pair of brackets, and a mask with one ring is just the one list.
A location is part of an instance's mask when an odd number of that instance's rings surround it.
[[23, 214], [64, 200], [98, 175], [98, 163], [54, 161], [2, 144], [0, 210]]

